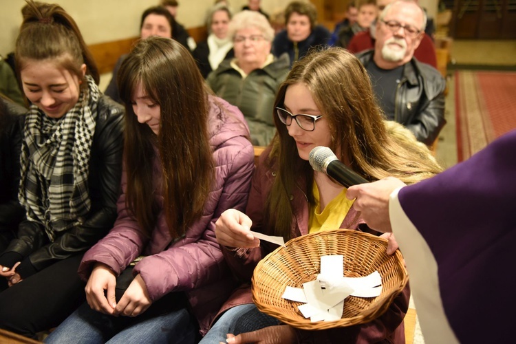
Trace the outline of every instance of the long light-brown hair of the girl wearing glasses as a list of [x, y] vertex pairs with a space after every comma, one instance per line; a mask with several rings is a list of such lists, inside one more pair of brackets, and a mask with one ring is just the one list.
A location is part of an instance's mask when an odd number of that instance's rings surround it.
[[[441, 171], [424, 144], [399, 125], [386, 127], [385, 116], [376, 104], [369, 76], [360, 61], [347, 50], [330, 48], [312, 50], [294, 63], [290, 74], [277, 92], [275, 107], [283, 107], [288, 86], [302, 83], [330, 126], [332, 151], [341, 151], [339, 160], [347, 163], [367, 180], [389, 175], [407, 184], [429, 178]], [[314, 204], [314, 171], [309, 162], [299, 158], [294, 139], [286, 125], [274, 116], [277, 137], [272, 142], [268, 163], [277, 164], [278, 172], [268, 195], [265, 218], [269, 228], [290, 237], [295, 188], [306, 190]], [[396, 133], [396, 135], [391, 135]], [[299, 176], [303, 176], [299, 178]]]

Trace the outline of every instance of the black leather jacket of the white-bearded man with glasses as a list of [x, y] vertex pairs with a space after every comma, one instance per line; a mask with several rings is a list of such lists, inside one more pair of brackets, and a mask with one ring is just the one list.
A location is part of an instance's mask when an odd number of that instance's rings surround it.
[[[372, 61], [374, 50], [357, 54], [364, 67]], [[437, 69], [420, 63], [416, 58], [405, 64], [403, 78], [398, 83], [394, 120], [405, 125], [418, 141], [433, 143], [444, 120], [444, 89], [446, 81]]]

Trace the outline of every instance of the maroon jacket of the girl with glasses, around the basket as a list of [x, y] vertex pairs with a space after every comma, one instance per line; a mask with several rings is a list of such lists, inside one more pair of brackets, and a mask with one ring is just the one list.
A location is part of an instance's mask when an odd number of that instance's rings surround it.
[[[268, 148], [261, 154], [255, 175], [252, 177], [251, 191], [246, 208], [246, 214], [252, 219], [252, 230], [260, 233], [267, 233], [264, 226], [264, 208], [268, 193], [272, 189], [277, 174], [277, 166], [268, 167], [266, 157], [270, 153]], [[308, 162], [306, 162], [308, 164]], [[301, 176], [301, 178], [303, 178]], [[299, 237], [308, 234], [308, 222], [310, 206], [306, 197], [306, 190], [301, 186], [305, 185], [303, 180], [297, 184], [290, 199], [292, 200], [292, 231], [291, 237]], [[361, 213], [353, 207], [345, 216], [341, 228], [361, 230], [378, 235], [379, 233], [369, 229]], [[268, 253], [277, 248], [273, 244], [261, 241], [258, 248], [227, 248], [223, 246], [222, 252], [230, 268], [235, 275], [245, 282], [239, 289], [233, 292], [226, 301], [221, 312], [235, 305], [252, 303], [250, 281], [252, 272], [257, 263]], [[387, 312], [378, 319], [350, 327], [334, 328], [331, 330], [306, 331], [297, 330], [298, 343], [405, 343], [405, 326], [403, 318], [409, 307], [410, 290], [407, 286], [391, 303]]]

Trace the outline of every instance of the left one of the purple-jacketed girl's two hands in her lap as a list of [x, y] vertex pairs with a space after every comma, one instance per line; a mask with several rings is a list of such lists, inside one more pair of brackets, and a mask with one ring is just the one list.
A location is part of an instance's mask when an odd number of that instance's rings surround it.
[[[86, 283], [86, 301], [93, 310], [104, 314], [114, 314], [115, 300], [115, 273], [107, 265], [97, 263], [89, 275]], [[104, 292], [106, 291], [106, 294]]]

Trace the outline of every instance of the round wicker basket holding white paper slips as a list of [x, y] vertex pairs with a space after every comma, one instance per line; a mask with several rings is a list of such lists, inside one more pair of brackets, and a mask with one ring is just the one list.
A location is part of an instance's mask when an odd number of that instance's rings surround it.
[[[389, 308], [407, 284], [407, 270], [399, 250], [386, 254], [387, 240], [357, 230], [328, 230], [297, 237], [262, 259], [252, 276], [252, 299], [270, 316], [303, 330], [325, 330], [367, 323]], [[378, 270], [382, 292], [378, 297], [347, 297], [338, 321], [312, 322], [297, 309], [303, 303], [283, 299], [286, 286], [302, 288], [314, 281], [322, 255], [343, 255], [345, 277], [363, 277]]]

